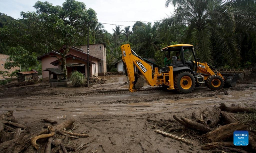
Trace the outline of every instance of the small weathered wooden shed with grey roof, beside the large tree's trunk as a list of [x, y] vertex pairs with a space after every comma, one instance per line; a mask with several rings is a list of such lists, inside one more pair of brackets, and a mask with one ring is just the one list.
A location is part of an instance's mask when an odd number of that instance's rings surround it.
[[58, 68], [46, 68], [44, 71], [49, 71], [50, 86], [69, 86], [72, 85], [71, 79], [63, 79], [64, 72]]

